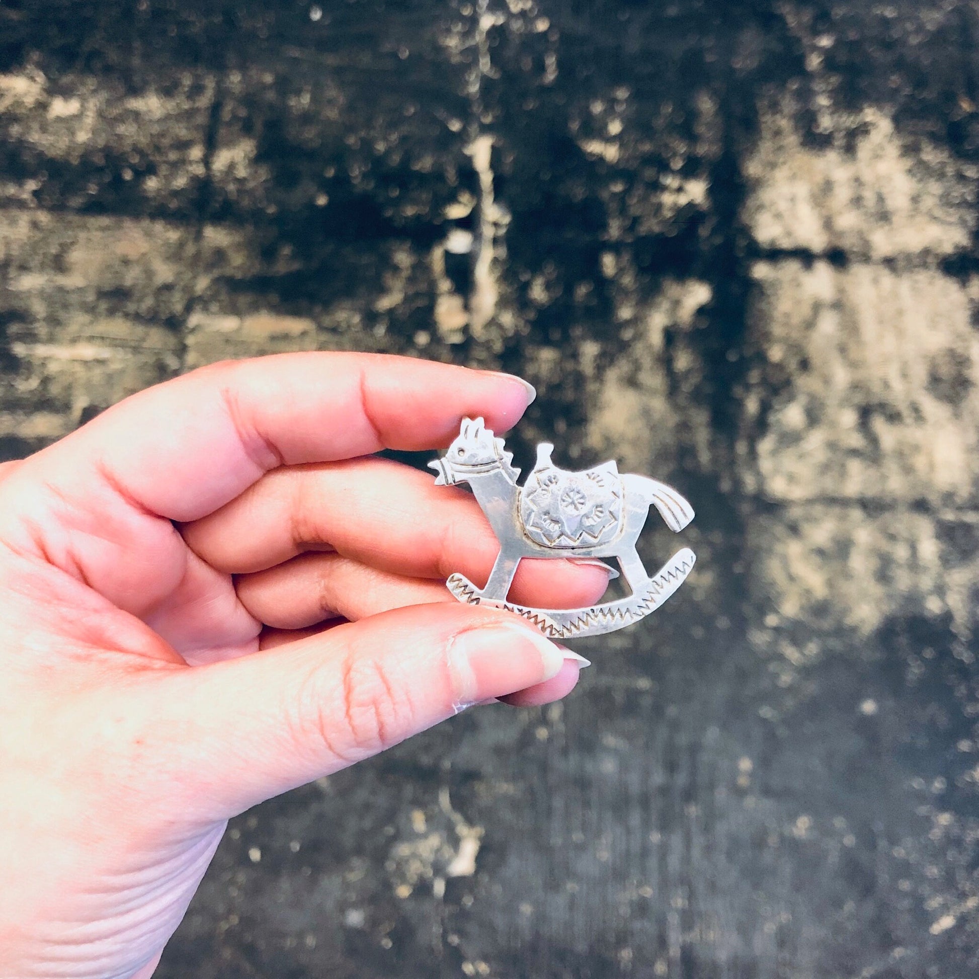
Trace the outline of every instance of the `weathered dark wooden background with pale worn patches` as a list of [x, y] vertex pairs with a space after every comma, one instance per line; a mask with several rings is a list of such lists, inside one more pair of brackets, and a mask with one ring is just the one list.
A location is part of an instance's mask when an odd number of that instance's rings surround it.
[[977, 31], [0, 0], [7, 456], [217, 358], [388, 350], [522, 373], [525, 461], [699, 511], [567, 703], [236, 820], [162, 979], [976, 974]]

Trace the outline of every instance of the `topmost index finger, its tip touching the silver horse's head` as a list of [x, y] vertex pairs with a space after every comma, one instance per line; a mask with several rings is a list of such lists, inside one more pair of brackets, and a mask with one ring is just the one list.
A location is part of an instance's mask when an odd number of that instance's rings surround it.
[[511, 375], [428, 360], [283, 353], [212, 364], [128, 397], [32, 464], [50, 469], [47, 482], [66, 496], [83, 498], [86, 482], [97, 480], [185, 522], [280, 465], [436, 448], [466, 415], [509, 429], [533, 396]]

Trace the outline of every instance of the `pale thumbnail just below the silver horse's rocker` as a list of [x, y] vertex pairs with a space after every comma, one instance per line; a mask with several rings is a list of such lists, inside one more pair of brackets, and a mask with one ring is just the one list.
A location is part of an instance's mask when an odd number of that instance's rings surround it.
[[453, 704], [479, 703], [557, 676], [565, 650], [536, 629], [500, 623], [459, 632], [448, 649]]

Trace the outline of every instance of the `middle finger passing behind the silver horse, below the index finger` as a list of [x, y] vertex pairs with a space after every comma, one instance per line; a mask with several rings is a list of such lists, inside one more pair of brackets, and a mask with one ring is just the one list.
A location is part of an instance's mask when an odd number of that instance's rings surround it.
[[[212, 567], [256, 572], [310, 546], [383, 571], [444, 580], [459, 572], [482, 585], [499, 541], [472, 495], [386, 459], [354, 459], [268, 473], [216, 513], [182, 528]], [[576, 608], [597, 601], [610, 570], [600, 562], [521, 562], [514, 601]]]

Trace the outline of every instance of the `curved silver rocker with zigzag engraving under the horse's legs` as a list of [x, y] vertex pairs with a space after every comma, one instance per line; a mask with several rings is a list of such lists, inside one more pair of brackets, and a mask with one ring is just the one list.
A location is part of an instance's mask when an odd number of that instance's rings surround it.
[[448, 590], [468, 605], [491, 605], [515, 612], [529, 619], [537, 629], [552, 639], [571, 639], [584, 635], [603, 635], [629, 626], [655, 612], [690, 574], [696, 555], [689, 547], [676, 554], [652, 578], [633, 585], [628, 598], [585, 609], [532, 609], [515, 605], [503, 598], [486, 598], [475, 584], [463, 575], [451, 575], [445, 583]]

